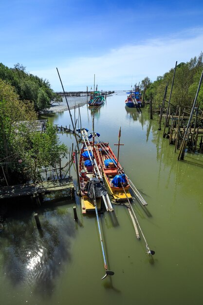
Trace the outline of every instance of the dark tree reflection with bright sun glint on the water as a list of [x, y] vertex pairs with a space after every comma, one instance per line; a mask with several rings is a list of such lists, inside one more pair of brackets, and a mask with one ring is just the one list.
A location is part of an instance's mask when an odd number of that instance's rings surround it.
[[55, 279], [71, 262], [71, 240], [75, 236], [73, 215], [67, 210], [40, 210], [41, 230], [33, 212], [15, 215], [0, 232], [1, 265], [13, 286], [25, 285], [44, 297], [51, 295]]

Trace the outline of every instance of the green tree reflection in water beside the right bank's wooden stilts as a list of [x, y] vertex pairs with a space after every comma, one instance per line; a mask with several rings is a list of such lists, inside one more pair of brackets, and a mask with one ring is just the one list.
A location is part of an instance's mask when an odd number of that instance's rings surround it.
[[[172, 186], [173, 202], [175, 203], [179, 188], [185, 191], [193, 190], [193, 196], [200, 196], [200, 174], [203, 168], [201, 154], [185, 154], [184, 161], [177, 160], [175, 146], [169, 145], [169, 140], [163, 138], [163, 131], [158, 131], [157, 121], [151, 120], [152, 142], [156, 145], [156, 159], [159, 164], [157, 188], [162, 184], [163, 176], [167, 175], [165, 188]], [[196, 190], [196, 191], [195, 191]], [[194, 198], [193, 198], [194, 199]]]

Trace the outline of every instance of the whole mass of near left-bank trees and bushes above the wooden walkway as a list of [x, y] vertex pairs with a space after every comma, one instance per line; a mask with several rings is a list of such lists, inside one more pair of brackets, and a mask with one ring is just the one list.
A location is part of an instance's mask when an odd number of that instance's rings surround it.
[[21, 100], [16, 88], [0, 79], [1, 186], [42, 179], [41, 170], [54, 167], [67, 153], [53, 125], [35, 132], [36, 119], [35, 102]]

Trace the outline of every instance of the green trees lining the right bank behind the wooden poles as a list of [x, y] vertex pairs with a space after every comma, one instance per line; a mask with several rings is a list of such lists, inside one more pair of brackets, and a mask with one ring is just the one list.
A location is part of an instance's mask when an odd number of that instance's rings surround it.
[[[194, 101], [200, 76], [203, 71], [203, 52], [199, 57], [191, 58], [188, 62], [181, 62], [176, 67], [171, 104], [175, 107], [191, 107]], [[160, 107], [163, 101], [165, 88], [168, 83], [166, 100], [169, 98], [174, 68], [166, 72], [163, 76], [158, 76], [154, 82], [145, 77], [141, 83], [143, 96], [146, 101], [152, 100], [153, 104]], [[203, 111], [203, 84], [198, 95], [197, 105]]]

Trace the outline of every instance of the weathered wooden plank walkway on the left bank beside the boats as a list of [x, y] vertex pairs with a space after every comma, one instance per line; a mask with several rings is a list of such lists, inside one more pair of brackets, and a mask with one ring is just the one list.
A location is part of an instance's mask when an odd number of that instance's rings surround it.
[[19, 196], [36, 195], [51, 191], [74, 190], [73, 179], [61, 179], [44, 181], [37, 184], [19, 184], [8, 187], [0, 187], [0, 199], [15, 198]]

